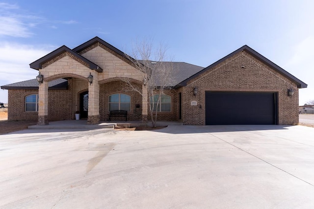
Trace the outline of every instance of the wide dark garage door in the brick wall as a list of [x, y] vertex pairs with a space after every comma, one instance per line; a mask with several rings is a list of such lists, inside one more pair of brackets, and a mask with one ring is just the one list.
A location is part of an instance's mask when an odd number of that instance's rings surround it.
[[276, 93], [206, 92], [206, 125], [272, 125], [277, 122]]

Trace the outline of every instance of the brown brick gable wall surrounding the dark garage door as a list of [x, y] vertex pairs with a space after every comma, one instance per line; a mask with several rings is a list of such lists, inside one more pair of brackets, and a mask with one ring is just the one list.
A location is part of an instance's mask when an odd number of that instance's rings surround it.
[[[245, 67], [241, 68], [242, 65]], [[198, 87], [196, 97], [193, 95], [194, 87]], [[289, 98], [287, 91], [291, 87], [295, 93]], [[182, 116], [185, 125], [205, 125], [205, 91], [276, 92], [278, 124], [297, 124], [299, 120], [299, 94], [296, 84], [246, 52], [235, 54], [219, 66], [191, 80], [180, 90], [183, 91]], [[198, 102], [198, 106], [191, 106], [193, 100]]]

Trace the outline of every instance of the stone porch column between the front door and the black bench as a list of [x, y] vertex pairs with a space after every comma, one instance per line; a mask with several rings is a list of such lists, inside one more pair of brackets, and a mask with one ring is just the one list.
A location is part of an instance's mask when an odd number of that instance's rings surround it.
[[93, 76], [93, 82], [88, 82], [88, 117], [87, 124], [97, 124], [100, 121], [99, 116], [99, 83], [98, 73], [96, 71], [91, 72]]

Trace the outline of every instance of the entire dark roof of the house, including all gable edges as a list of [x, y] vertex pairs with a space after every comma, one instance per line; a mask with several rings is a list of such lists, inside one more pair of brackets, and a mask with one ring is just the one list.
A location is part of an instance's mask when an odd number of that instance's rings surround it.
[[[105, 47], [110, 49], [113, 53], [120, 56], [125, 61], [128, 61], [128, 60], [131, 60], [131, 62], [134, 61], [134, 60], [132, 60], [133, 58], [128, 57], [124, 52], [118, 50], [117, 48], [113, 47], [112, 45], [108, 44], [107, 42], [105, 42], [104, 40], [102, 40], [101, 38], [96, 36], [95, 38], [79, 45], [78, 47], [74, 48], [73, 50], [69, 49], [66, 46], [62, 46], [62, 47], [56, 49], [55, 51], [47, 54], [46, 56], [43, 56], [42, 58], [32, 62], [30, 64], [30, 67], [33, 69], [37, 69], [37, 70], [41, 69], [41, 65], [43, 63], [53, 59], [54, 57], [60, 55], [63, 52], [69, 52], [69, 53], [73, 54], [74, 56], [78, 57], [79, 59], [83, 60], [84, 62], [88, 63], [90, 66], [90, 69], [96, 70], [97, 72], [103, 72], [103, 70], [98, 65], [96, 65], [95, 63], [91, 62], [90, 60], [88, 60], [85, 57], [78, 54], [78, 52], [85, 50], [86, 48], [92, 46], [93, 44], [95, 44], [97, 42], [103, 44]], [[173, 83], [171, 84], [171, 86], [175, 86], [175, 88], [185, 86], [189, 80], [196, 78], [200, 74], [206, 72], [210, 68], [214, 67], [215, 65], [219, 64], [220, 62], [223, 62], [224, 60], [233, 56], [235, 53], [238, 53], [241, 51], [245, 51], [245, 52], [250, 53], [252, 56], [256, 57], [257, 59], [262, 61], [264, 64], [266, 64], [269, 67], [271, 67], [272, 69], [276, 70], [281, 75], [283, 75], [286, 78], [290, 79], [291, 81], [295, 82], [299, 88], [306, 88], [307, 87], [306, 83], [304, 83], [301, 80], [299, 80], [298, 78], [292, 76], [287, 71], [285, 71], [284, 69], [282, 69], [281, 67], [279, 67], [275, 63], [271, 62], [269, 59], [265, 58], [260, 53], [254, 51], [253, 49], [251, 49], [247, 45], [244, 45], [243, 47], [239, 48], [235, 52], [230, 53], [229, 55], [223, 57], [222, 59], [216, 61], [215, 63], [209, 65], [206, 68], [203, 68], [203, 67], [200, 67], [197, 65], [192, 65], [189, 63], [185, 63], [185, 62], [164, 62], [164, 63], [171, 63], [173, 68], [175, 69], [175, 73], [174, 73], [175, 76], [174, 76]], [[153, 65], [152, 61], [150, 61], [149, 67], [154, 68], [152, 65]], [[60, 78], [60, 79], [62, 79], [62, 78]], [[64, 83], [66, 80], [62, 79], [62, 80], [64, 80], [64, 82], [62, 82], [60, 79], [56, 79], [56, 80], [51, 81], [49, 84], [50, 89], [52, 89], [52, 88], [58, 88], [58, 89], [65, 88], [65, 86], [67, 86], [67, 82], [66, 82], [66, 84]], [[37, 83], [36, 79], [32, 79], [32, 80], [26, 80], [26, 81], [22, 81], [22, 82], [4, 85], [4, 86], [1, 86], [1, 89], [38, 89], [38, 83]]]

